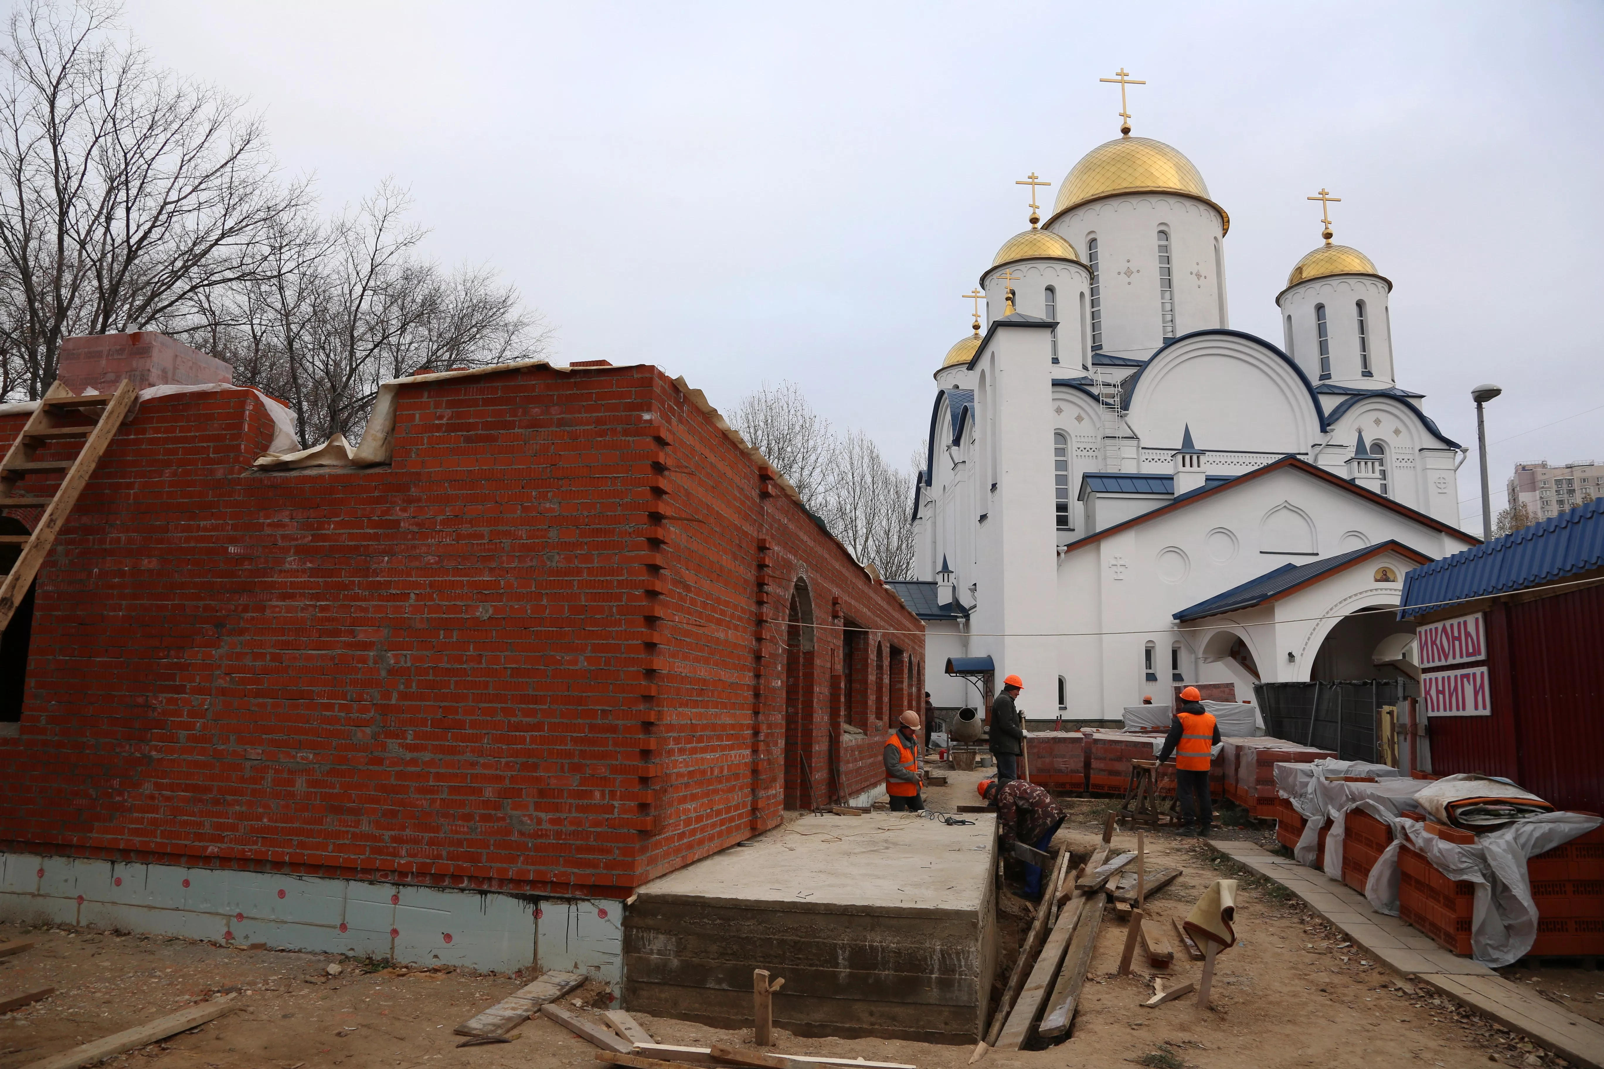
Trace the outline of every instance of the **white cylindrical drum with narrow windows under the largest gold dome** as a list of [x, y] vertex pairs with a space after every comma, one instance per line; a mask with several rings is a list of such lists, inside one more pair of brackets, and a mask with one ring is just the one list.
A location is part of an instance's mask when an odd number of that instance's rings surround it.
[[[1224, 325], [1216, 248], [1222, 220], [1213, 207], [1179, 194], [1108, 197], [1052, 221], [1051, 229], [1089, 256], [1097, 239], [1102, 351], [1147, 359], [1165, 343], [1158, 306], [1158, 231], [1169, 232], [1174, 335]], [[1224, 255], [1222, 252], [1219, 253]]]

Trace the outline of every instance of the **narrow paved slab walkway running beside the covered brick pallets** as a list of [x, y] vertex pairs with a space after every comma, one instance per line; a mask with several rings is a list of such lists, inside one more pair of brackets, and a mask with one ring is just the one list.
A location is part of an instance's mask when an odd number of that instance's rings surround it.
[[1323, 872], [1258, 843], [1209, 840], [1209, 845], [1285, 886], [1378, 962], [1416, 976], [1574, 1066], [1604, 1069], [1604, 1026], [1530, 995], [1485, 965], [1448, 954], [1397, 917], [1375, 912], [1363, 894]]

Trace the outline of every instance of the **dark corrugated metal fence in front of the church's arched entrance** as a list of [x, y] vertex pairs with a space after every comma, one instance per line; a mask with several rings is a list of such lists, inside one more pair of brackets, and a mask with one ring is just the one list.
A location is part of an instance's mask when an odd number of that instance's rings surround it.
[[1256, 683], [1253, 696], [1270, 736], [1333, 750], [1346, 761], [1379, 761], [1381, 707], [1399, 705], [1412, 688], [1410, 680]]

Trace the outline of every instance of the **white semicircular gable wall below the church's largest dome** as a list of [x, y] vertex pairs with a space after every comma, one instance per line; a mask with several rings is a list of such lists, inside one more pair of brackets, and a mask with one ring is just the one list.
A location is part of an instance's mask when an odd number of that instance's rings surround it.
[[1309, 388], [1277, 354], [1233, 335], [1169, 346], [1142, 370], [1126, 417], [1142, 444], [1179, 449], [1192, 426], [1198, 449], [1298, 454], [1320, 439]]

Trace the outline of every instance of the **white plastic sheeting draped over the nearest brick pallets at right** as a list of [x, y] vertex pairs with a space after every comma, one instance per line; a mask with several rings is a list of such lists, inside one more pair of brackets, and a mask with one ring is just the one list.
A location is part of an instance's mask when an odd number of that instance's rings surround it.
[[1389, 917], [1399, 914], [1399, 837], [1404, 837], [1437, 872], [1476, 886], [1471, 957], [1489, 968], [1503, 968], [1521, 960], [1537, 941], [1537, 904], [1532, 901], [1525, 862], [1586, 835], [1604, 821], [1583, 813], [1543, 813], [1497, 832], [1484, 832], [1476, 837], [1476, 843], [1464, 846], [1437, 838], [1418, 821], [1389, 817], [1389, 822], [1394, 841], [1371, 867], [1365, 883], [1365, 898], [1371, 907]]

